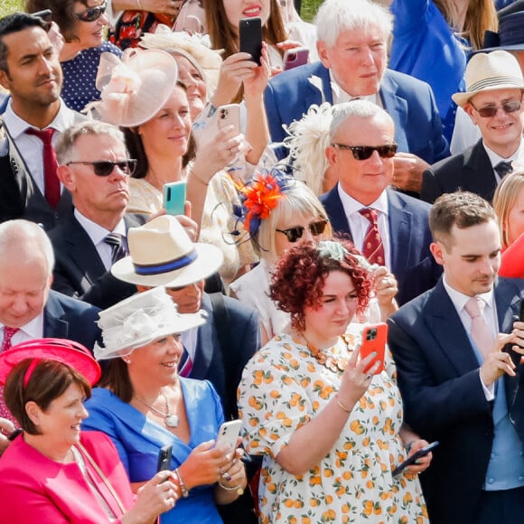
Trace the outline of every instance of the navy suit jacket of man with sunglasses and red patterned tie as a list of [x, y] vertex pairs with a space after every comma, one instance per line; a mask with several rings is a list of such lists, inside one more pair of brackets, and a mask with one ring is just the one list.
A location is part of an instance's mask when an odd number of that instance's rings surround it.
[[[398, 304], [431, 289], [442, 268], [435, 263], [429, 250], [432, 242], [428, 225], [429, 205], [405, 194], [387, 189], [388, 223], [391, 242], [391, 272], [398, 281]], [[320, 200], [335, 232], [351, 236], [348, 219], [338, 192], [338, 184]]]

